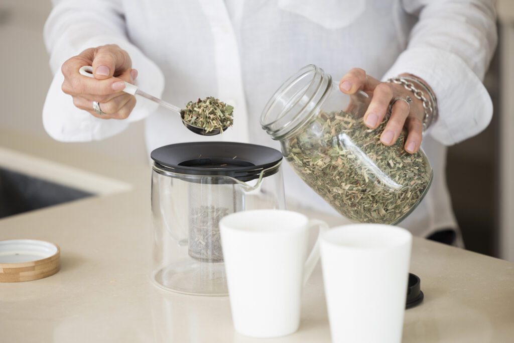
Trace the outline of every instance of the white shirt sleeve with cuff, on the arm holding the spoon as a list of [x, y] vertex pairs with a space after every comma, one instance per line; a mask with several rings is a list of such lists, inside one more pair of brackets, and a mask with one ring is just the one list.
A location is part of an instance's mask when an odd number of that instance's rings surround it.
[[46, 132], [60, 141], [100, 140], [153, 113], [158, 105], [141, 97], [137, 97], [134, 110], [124, 120], [99, 119], [74, 106], [72, 98], [61, 89], [64, 81], [61, 65], [90, 47], [117, 44], [127, 51], [132, 67], [139, 71], [136, 85], [149, 94], [162, 95], [164, 77], [157, 65], [128, 40], [120, 0], [53, 0], [53, 4], [44, 28], [54, 74], [43, 106]]

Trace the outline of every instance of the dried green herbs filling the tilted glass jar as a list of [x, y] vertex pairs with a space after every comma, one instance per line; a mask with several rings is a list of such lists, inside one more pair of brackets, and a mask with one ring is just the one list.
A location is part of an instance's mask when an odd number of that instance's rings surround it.
[[420, 152], [380, 142], [386, 121], [370, 130], [345, 112], [320, 113], [287, 142], [286, 159], [302, 179], [346, 218], [394, 224], [423, 198], [432, 169]]

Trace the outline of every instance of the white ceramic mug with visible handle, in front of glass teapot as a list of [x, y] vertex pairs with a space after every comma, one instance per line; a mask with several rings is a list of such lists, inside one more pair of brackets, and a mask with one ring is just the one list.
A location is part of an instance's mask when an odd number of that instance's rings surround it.
[[318, 241], [307, 257], [309, 228], [318, 220], [285, 210], [252, 210], [219, 222], [235, 330], [279, 337], [298, 330], [302, 287], [319, 260]]

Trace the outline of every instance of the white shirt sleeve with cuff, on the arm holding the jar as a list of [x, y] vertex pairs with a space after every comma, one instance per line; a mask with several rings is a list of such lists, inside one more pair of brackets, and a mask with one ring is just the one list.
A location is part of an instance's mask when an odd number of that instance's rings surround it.
[[492, 0], [403, 1], [418, 16], [403, 51], [383, 80], [402, 73], [425, 80], [439, 117], [428, 133], [453, 145], [489, 124], [492, 102], [482, 79], [497, 44]]

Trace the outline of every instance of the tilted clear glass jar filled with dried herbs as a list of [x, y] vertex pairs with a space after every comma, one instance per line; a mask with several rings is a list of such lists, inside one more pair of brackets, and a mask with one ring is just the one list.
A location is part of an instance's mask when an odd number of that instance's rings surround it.
[[[423, 150], [380, 142], [385, 121], [368, 129], [363, 116], [371, 95], [342, 93], [323, 69], [308, 65], [268, 101], [261, 125], [304, 182], [346, 218], [396, 224], [416, 208], [432, 181]], [[388, 116], [386, 117], [387, 120]]]

